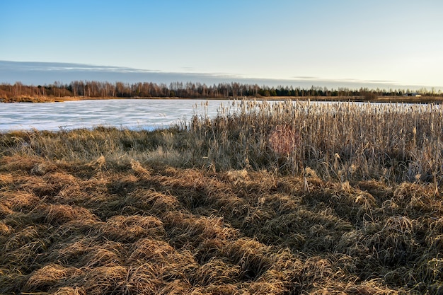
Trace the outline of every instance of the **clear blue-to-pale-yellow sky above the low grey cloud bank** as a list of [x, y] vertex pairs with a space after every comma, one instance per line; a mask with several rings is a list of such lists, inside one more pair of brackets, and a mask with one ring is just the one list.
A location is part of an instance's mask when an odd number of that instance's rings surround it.
[[441, 0], [0, 0], [0, 60], [441, 87], [442, 13]]

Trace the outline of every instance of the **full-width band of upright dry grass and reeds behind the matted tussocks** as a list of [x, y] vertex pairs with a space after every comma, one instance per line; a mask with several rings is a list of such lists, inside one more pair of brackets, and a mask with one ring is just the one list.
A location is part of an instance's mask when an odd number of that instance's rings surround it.
[[[195, 116], [171, 129], [11, 132], [0, 146], [4, 156], [76, 161], [86, 170], [85, 162], [100, 169], [100, 161], [134, 170], [137, 163], [297, 175], [309, 168], [323, 180], [433, 183], [437, 192], [442, 117], [440, 105], [240, 101], [213, 119]], [[52, 169], [26, 165], [37, 175]]]

